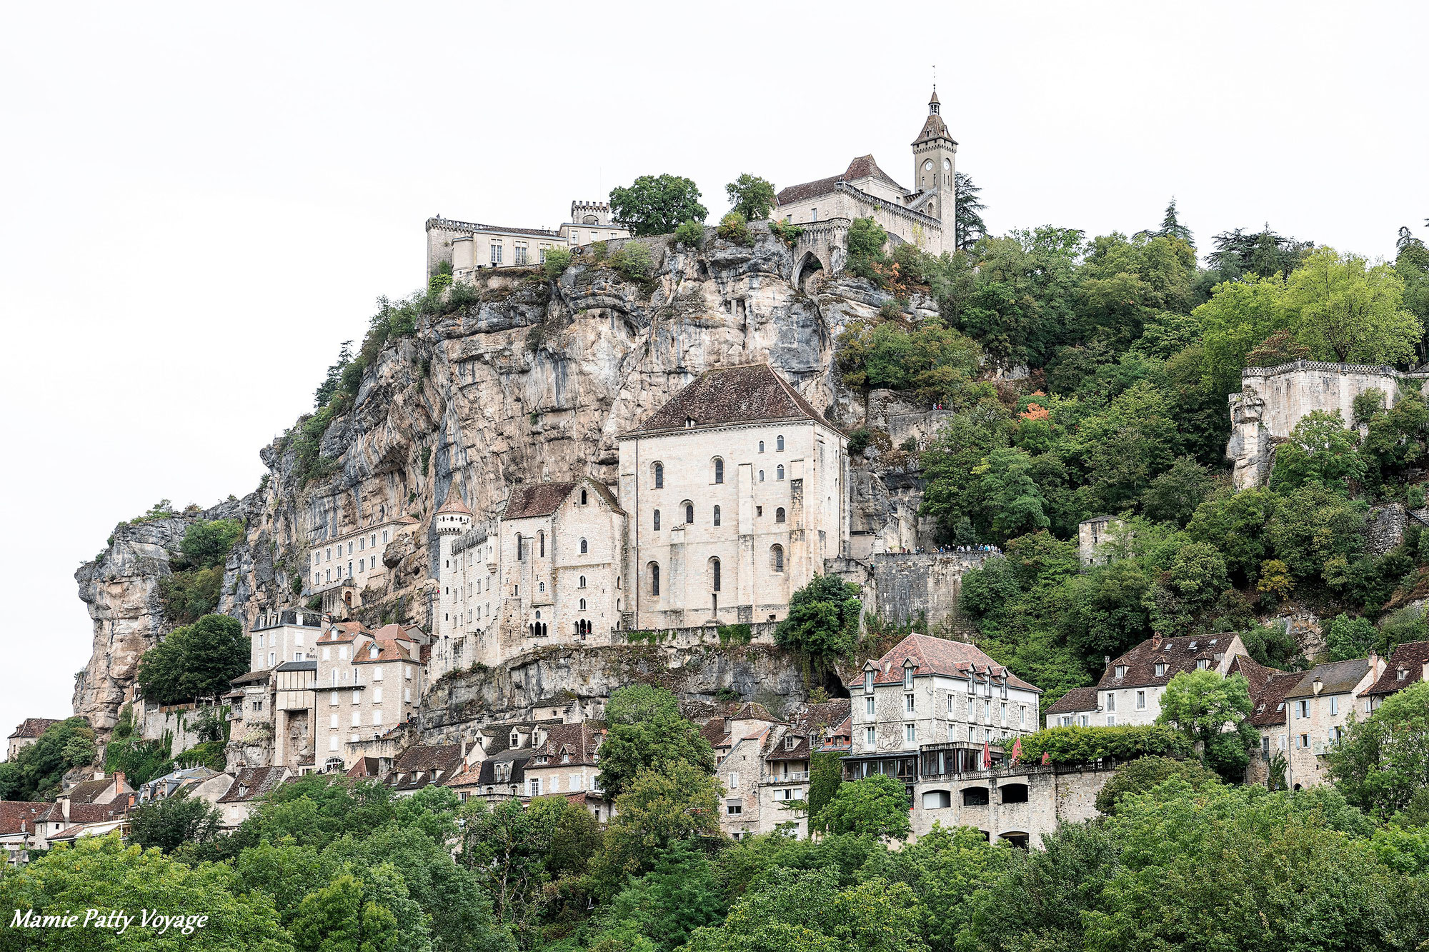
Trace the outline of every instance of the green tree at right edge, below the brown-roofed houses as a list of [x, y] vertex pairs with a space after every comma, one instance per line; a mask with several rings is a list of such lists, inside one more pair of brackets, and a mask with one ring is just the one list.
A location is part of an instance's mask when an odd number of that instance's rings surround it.
[[1429, 796], [1429, 682], [1388, 696], [1329, 752], [1335, 788], [1380, 822]]

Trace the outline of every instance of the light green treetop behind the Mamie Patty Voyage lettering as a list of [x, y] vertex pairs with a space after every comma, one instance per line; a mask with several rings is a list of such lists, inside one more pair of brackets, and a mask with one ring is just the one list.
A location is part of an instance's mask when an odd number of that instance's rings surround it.
[[[249, 891], [223, 863], [194, 868], [169, 859], [157, 849], [124, 846], [117, 835], [80, 838], [60, 845], [26, 866], [0, 876], [0, 909], [37, 913], [86, 909], [124, 909], [134, 916], [119, 935], [111, 929], [9, 929], [0, 931], [0, 949], [54, 952], [290, 952], [292, 942], [279, 925], [273, 902]], [[141, 925], [140, 909], [164, 916], [207, 916], [203, 928], [191, 921], [163, 935], [156, 925]], [[189, 932], [183, 932], [187, 928]]]

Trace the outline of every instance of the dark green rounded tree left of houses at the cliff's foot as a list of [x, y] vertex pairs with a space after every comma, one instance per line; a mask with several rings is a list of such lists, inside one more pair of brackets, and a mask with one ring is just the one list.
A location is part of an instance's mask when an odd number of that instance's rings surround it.
[[161, 705], [217, 698], [247, 670], [249, 650], [239, 619], [204, 615], [144, 652], [139, 660], [139, 686], [147, 700]]

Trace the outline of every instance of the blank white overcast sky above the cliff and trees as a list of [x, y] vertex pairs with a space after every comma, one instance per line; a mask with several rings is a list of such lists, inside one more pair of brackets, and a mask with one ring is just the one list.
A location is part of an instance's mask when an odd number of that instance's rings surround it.
[[644, 173], [712, 216], [873, 153], [937, 66], [992, 230], [1426, 233], [1422, 3], [0, 4], [0, 736], [64, 716], [71, 573], [263, 473], [423, 220], [556, 226]]

